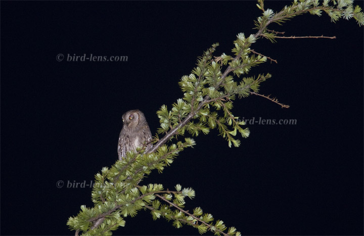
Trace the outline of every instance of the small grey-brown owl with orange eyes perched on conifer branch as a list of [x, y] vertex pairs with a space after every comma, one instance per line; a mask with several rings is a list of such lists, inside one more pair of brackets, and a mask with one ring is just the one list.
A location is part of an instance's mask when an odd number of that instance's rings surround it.
[[152, 133], [143, 112], [139, 110], [127, 111], [122, 115], [123, 128], [119, 135], [118, 155], [119, 160], [129, 151], [135, 151], [137, 147], [147, 145], [146, 152], [153, 147], [150, 143]]

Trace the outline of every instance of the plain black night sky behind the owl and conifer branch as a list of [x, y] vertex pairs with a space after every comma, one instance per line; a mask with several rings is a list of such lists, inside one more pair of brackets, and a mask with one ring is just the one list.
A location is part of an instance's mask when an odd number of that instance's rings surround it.
[[[279, 11], [286, 4], [264, 5]], [[238, 33], [256, 32], [255, 5], [2, 1], [0, 233], [74, 234], [67, 219], [93, 206], [92, 188], [70, 185], [89, 184], [117, 160], [122, 114], [142, 110], [155, 135], [156, 111], [183, 97], [178, 81], [197, 57], [215, 42], [215, 56], [232, 55]], [[278, 64], [266, 62], [248, 76], [271, 73], [260, 93], [290, 108], [250, 96], [234, 102], [234, 115], [296, 124], [248, 124], [240, 148], [229, 148], [217, 130], [201, 134], [141, 184], [193, 187], [186, 210], [200, 206], [244, 235], [362, 235], [363, 27], [305, 14], [269, 29], [337, 37], [251, 46]], [[67, 61], [90, 54], [128, 59]], [[125, 220], [114, 235], [198, 234], [143, 210]]]

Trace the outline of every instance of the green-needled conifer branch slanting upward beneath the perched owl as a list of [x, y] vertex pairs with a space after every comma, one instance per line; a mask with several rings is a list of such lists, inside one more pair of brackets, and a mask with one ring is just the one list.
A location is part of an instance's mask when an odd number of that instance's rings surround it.
[[[185, 210], [185, 201], [195, 196], [191, 187], [176, 184], [175, 190], [169, 191], [162, 184], [143, 185], [144, 176], [155, 169], [162, 172], [179, 152], [195, 145], [192, 136], [201, 132], [208, 134], [210, 129], [218, 129], [229, 147], [239, 147], [238, 133], [246, 138], [249, 130], [244, 127], [244, 121], [239, 121], [231, 112], [233, 101], [237, 98], [259, 95], [283, 108], [288, 107], [277, 99], [259, 94], [261, 82], [270, 78], [270, 74], [246, 76], [252, 67], [267, 60], [274, 61], [251, 49], [258, 39], [267, 38], [275, 42], [275, 38], [283, 37], [267, 28], [271, 23], [282, 24], [304, 13], [321, 16], [325, 12], [333, 22], [340, 18], [354, 18], [359, 26], [364, 24], [364, 14], [360, 7], [353, 6], [352, 0], [325, 0], [320, 3], [317, 0], [295, 0], [276, 13], [264, 8], [263, 0], [258, 0], [257, 7], [262, 15], [255, 21], [255, 34], [245, 36], [239, 33], [232, 55], [213, 56], [218, 46], [214, 43], [198, 58], [192, 73], [180, 79], [178, 84], [184, 97], [173, 103], [170, 109], [163, 105], [157, 111], [160, 128], [153, 139], [153, 148], [148, 153], [144, 152], [145, 147], [135, 153], [129, 152], [124, 159], [116, 161], [110, 168], [104, 167], [95, 175], [92, 190], [94, 207], [83, 205], [77, 216], [68, 219], [67, 225], [76, 230], [75, 235], [111, 235], [112, 230], [125, 226], [128, 216], [133, 217], [142, 209], [150, 211], [153, 219], [165, 218], [176, 228], [185, 224], [197, 228], [201, 234], [211, 231], [216, 235], [240, 235], [235, 227], [226, 227], [223, 221], [215, 220], [200, 207]], [[159, 135], [162, 137], [159, 138]], [[177, 136], [185, 137], [179, 137], [177, 141]]]

